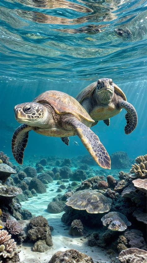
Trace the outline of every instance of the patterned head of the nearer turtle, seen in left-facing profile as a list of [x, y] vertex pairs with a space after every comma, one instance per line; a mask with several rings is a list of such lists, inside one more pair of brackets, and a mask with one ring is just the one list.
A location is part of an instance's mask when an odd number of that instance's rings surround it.
[[45, 123], [47, 109], [40, 103], [26, 102], [14, 107], [15, 118], [18, 123], [25, 123], [29, 126], [40, 126]]

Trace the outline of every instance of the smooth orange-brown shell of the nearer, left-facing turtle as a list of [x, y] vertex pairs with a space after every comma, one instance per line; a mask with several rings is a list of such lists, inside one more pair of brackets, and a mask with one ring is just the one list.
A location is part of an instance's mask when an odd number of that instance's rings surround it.
[[87, 120], [91, 124], [94, 123], [87, 111], [72, 96], [61, 91], [45, 91], [33, 100], [43, 105], [49, 105], [56, 114], [72, 114], [76, 117]]

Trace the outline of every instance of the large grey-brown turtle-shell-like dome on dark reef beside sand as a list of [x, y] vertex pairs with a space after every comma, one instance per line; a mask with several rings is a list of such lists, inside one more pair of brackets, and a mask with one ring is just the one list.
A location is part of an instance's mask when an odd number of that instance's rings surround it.
[[90, 214], [98, 214], [110, 210], [112, 199], [97, 190], [84, 189], [75, 192], [65, 204], [77, 210], [86, 210]]

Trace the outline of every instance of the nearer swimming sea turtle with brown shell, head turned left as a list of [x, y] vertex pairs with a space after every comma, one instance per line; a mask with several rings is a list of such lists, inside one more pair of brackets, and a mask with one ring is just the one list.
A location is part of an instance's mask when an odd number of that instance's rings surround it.
[[46, 91], [33, 100], [16, 105], [15, 118], [20, 125], [12, 137], [12, 153], [23, 163], [29, 131], [61, 137], [68, 145], [68, 136], [78, 135], [91, 156], [103, 168], [110, 169], [110, 158], [98, 136], [90, 130], [94, 121], [73, 97], [61, 91]]

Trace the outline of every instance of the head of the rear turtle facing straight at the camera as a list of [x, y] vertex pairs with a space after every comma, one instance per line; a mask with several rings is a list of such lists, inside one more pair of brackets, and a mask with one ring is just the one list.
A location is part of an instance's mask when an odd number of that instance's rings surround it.
[[100, 78], [96, 86], [96, 95], [103, 104], [109, 104], [114, 96], [114, 83], [111, 78]]

